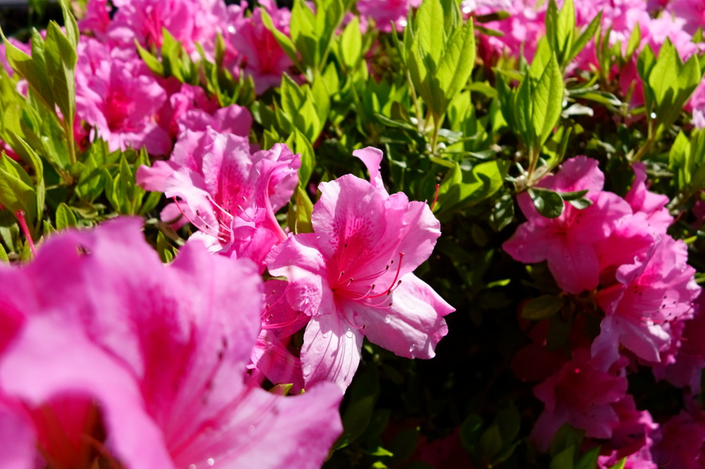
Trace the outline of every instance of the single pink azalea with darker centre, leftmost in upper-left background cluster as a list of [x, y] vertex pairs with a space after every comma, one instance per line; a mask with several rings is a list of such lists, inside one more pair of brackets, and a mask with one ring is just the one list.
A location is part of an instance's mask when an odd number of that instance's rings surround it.
[[79, 44], [76, 113], [111, 151], [145, 146], [149, 154], [168, 154], [171, 137], [157, 123], [166, 92], [138, 56], [118, 54], [124, 52], [94, 39]]

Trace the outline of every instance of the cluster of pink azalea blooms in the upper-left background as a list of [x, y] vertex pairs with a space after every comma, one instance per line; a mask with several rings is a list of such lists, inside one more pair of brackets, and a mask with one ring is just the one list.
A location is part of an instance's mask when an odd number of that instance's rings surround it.
[[91, 141], [102, 138], [111, 151], [145, 146], [149, 154], [168, 155], [188, 111], [213, 113], [219, 107], [200, 87], [154, 76], [137, 54], [135, 40], [158, 54], [166, 30], [200, 60], [196, 44], [212, 57], [220, 34], [224, 65], [235, 77], [252, 76], [258, 94], [277, 85], [291, 66], [262, 23], [260, 8], [266, 8], [276, 27], [288, 33], [290, 14], [273, 1], [260, 2], [251, 17], [244, 14], [246, 4], [226, 6], [222, 0], [112, 3], [111, 19], [104, 0], [89, 2], [80, 27], [92, 37], [80, 37], [76, 69], [77, 121], [85, 123]]

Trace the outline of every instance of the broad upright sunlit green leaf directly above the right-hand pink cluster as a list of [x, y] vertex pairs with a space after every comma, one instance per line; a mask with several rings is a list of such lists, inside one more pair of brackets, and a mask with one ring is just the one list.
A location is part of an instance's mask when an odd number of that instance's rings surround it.
[[558, 125], [563, 108], [563, 89], [563, 75], [556, 58], [552, 56], [532, 93], [531, 122], [537, 136], [535, 149], [540, 149], [553, 132], [553, 127]]

